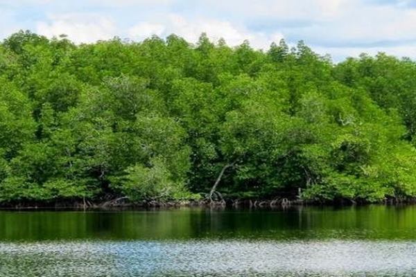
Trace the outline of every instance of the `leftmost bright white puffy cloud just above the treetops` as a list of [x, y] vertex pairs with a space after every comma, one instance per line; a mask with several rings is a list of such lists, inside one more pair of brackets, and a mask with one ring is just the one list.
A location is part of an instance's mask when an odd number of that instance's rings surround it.
[[46, 37], [68, 35], [73, 42], [96, 42], [117, 35], [109, 17], [94, 13], [50, 15], [48, 22], [37, 22], [36, 32]]

